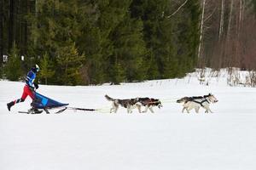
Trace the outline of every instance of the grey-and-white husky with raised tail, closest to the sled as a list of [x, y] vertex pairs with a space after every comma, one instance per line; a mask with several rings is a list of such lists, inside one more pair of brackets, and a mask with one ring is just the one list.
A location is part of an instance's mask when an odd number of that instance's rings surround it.
[[112, 101], [112, 108], [110, 109], [110, 113], [116, 113], [119, 109], [119, 105], [125, 107], [127, 109], [127, 113], [131, 113], [131, 110], [137, 107], [137, 99], [113, 99], [107, 94], [105, 95], [105, 98], [108, 99], [108, 101]]

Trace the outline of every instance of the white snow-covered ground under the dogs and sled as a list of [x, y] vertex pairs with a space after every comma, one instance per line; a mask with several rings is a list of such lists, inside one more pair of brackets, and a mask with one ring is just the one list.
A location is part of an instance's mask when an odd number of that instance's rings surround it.
[[[212, 81], [212, 82], [211, 82]], [[18, 114], [31, 99], [20, 98], [23, 82], [0, 81], [1, 170], [254, 170], [256, 169], [256, 88], [232, 88], [226, 79], [199, 85], [195, 77], [125, 83], [119, 86], [43, 86], [38, 92], [70, 106], [100, 112]], [[183, 96], [212, 93], [212, 114], [181, 113]], [[155, 113], [108, 113], [104, 98], [153, 97]]]

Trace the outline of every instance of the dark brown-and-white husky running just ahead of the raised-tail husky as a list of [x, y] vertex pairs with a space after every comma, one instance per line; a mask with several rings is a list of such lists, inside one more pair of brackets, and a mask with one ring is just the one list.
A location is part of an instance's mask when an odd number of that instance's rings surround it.
[[141, 113], [141, 106], [145, 106], [145, 111], [143, 111], [143, 113], [147, 112], [148, 109], [149, 111], [151, 111], [152, 113], [154, 113], [153, 111], [153, 107], [157, 106], [158, 108], [163, 107], [163, 105], [160, 102], [160, 99], [153, 99], [153, 98], [137, 98], [137, 109], [138, 111]]

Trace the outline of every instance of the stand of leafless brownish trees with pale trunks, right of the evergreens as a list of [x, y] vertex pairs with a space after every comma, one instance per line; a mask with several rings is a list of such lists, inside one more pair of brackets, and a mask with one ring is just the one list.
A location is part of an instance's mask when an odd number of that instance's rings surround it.
[[[201, 16], [204, 20], [200, 23], [203, 27], [200, 26], [199, 62], [203, 58], [205, 65], [213, 68], [256, 68], [256, 18], [253, 14], [256, 12], [252, 7], [253, 1], [207, 0]], [[201, 0], [202, 9], [203, 3]], [[211, 16], [209, 20], [208, 16]]]

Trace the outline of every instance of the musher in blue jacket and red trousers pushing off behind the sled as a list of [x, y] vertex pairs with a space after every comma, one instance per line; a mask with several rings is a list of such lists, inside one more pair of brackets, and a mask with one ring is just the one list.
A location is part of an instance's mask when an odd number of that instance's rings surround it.
[[34, 89], [38, 89], [38, 84], [34, 82], [35, 78], [37, 77], [37, 72], [39, 71], [39, 66], [34, 65], [32, 69], [26, 75], [26, 84], [23, 88], [23, 94], [20, 99], [15, 99], [7, 104], [7, 108], [10, 111], [10, 108], [20, 102], [24, 102], [27, 95], [31, 97], [31, 99], [35, 98], [35, 91]]

